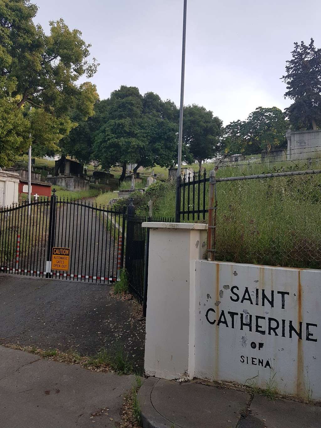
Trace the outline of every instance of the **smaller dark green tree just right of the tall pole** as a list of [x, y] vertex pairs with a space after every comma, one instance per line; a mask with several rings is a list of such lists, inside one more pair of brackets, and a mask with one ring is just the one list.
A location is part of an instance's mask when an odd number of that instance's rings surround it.
[[223, 122], [211, 110], [196, 104], [184, 108], [183, 140], [190, 154], [202, 168], [202, 162], [220, 152]]

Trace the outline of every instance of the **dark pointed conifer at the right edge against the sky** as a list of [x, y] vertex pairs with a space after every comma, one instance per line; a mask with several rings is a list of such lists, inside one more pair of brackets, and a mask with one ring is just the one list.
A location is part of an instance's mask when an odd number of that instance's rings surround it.
[[284, 97], [294, 103], [285, 113], [294, 129], [317, 129], [321, 126], [321, 49], [311, 39], [309, 45], [295, 42], [291, 53], [282, 80], [288, 89]]

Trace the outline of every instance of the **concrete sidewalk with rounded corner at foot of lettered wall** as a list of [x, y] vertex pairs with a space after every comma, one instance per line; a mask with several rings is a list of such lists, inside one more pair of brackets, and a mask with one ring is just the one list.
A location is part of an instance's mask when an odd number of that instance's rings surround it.
[[149, 377], [139, 399], [144, 428], [321, 427], [321, 407], [194, 382]]

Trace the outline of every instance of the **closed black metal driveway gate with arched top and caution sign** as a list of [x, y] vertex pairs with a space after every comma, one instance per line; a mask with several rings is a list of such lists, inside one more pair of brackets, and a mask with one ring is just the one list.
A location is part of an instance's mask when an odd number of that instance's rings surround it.
[[[125, 214], [86, 201], [39, 199], [0, 210], [0, 271], [112, 283], [123, 265]], [[51, 270], [53, 247], [70, 248], [69, 270]]]

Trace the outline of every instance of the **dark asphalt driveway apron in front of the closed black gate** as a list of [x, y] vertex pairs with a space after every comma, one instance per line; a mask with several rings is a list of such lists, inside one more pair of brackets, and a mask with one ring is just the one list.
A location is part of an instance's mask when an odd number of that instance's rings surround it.
[[117, 300], [110, 285], [0, 274], [0, 343], [69, 349], [92, 355], [124, 345], [143, 369], [145, 321], [135, 300]]

